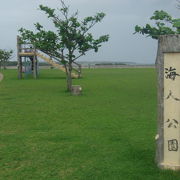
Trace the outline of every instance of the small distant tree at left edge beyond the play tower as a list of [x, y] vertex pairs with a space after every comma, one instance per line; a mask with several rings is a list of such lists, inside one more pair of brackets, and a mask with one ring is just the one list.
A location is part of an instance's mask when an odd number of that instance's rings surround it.
[[0, 69], [3, 66], [6, 69], [6, 65], [8, 60], [12, 57], [13, 51], [12, 50], [3, 50], [0, 49]]

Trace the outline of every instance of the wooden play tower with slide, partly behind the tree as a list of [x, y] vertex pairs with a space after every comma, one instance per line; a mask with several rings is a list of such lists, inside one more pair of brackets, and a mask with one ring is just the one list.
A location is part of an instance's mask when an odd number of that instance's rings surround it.
[[[22, 79], [28, 74], [32, 74], [36, 79], [39, 74], [38, 58], [51, 64], [53, 67], [66, 72], [64, 65], [57, 63], [48, 54], [41, 52], [39, 49], [33, 47], [30, 43], [22, 43], [19, 36], [17, 36], [17, 59], [18, 59], [18, 78]], [[81, 65], [73, 63], [72, 78], [81, 77]]]

